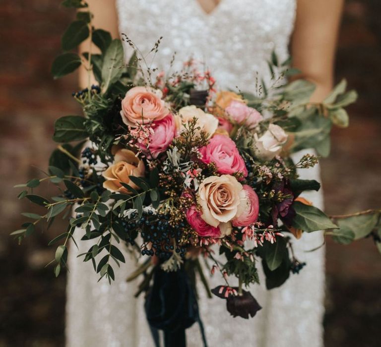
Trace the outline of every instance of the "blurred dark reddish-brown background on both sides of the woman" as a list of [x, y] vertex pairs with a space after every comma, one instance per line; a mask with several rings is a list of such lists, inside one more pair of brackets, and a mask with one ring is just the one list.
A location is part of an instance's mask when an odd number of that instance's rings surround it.
[[[64, 346], [65, 274], [56, 279], [45, 268], [54, 258], [47, 244], [62, 230], [35, 233], [22, 245], [9, 236], [20, 213], [32, 212], [13, 185], [47, 168], [54, 120], [79, 112], [70, 99], [77, 76], [50, 75], [72, 14], [60, 2], [0, 1], [0, 347]], [[321, 161], [328, 214], [381, 207], [380, 0], [345, 4], [336, 80], [344, 76], [360, 98], [350, 127], [334, 130], [332, 154]], [[373, 241], [327, 239], [326, 275], [325, 346], [380, 346], [381, 254]]]

